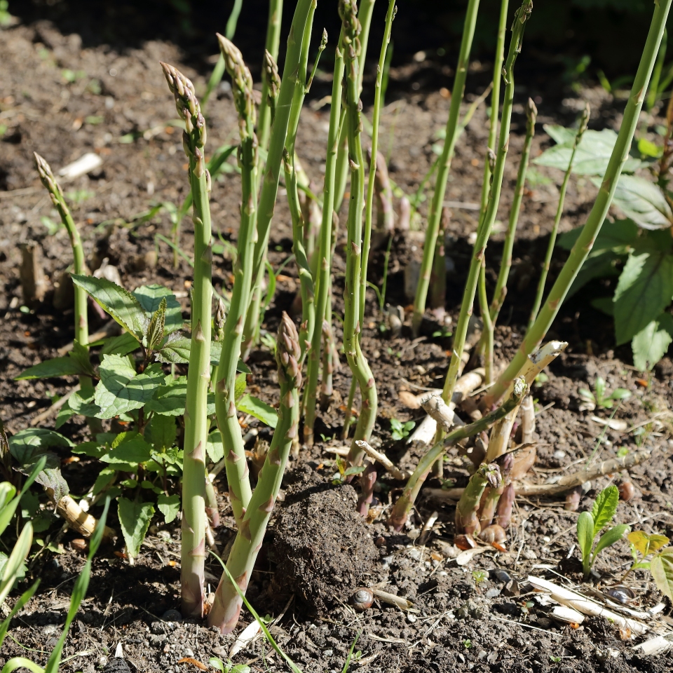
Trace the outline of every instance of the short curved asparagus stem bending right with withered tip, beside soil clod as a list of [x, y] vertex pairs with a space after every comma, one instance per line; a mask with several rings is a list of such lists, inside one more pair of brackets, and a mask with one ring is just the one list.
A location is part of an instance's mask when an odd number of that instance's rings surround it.
[[414, 473], [409, 478], [409, 481], [405, 486], [405, 490], [402, 491], [400, 498], [397, 498], [397, 502], [395, 503], [393, 511], [390, 514], [390, 524], [393, 525], [396, 531], [401, 531], [402, 526], [405, 525], [407, 516], [409, 516], [409, 512], [416, 502], [416, 498], [419, 495], [419, 491], [421, 491], [423, 482], [425, 482], [426, 477], [428, 477], [430, 469], [432, 468], [433, 463], [437, 461], [437, 458], [443, 456], [444, 451], [446, 451], [447, 448], [451, 446], [451, 444], [455, 444], [460, 440], [464, 440], [465, 437], [473, 437], [473, 435], [479, 434], [482, 432], [482, 430], [487, 430], [487, 428], [491, 427], [493, 423], [499, 419], [504, 418], [512, 409], [514, 409], [514, 407], [516, 407], [521, 402], [522, 397], [526, 392], [526, 382], [523, 379], [520, 379], [516, 383], [517, 385], [515, 385], [512, 396], [509, 398], [509, 400], [505, 400], [501, 407], [498, 407], [498, 409], [495, 411], [487, 414], [486, 416], [483, 416], [478, 421], [470, 423], [468, 426], [461, 426], [460, 428], [456, 428], [456, 430], [449, 433], [449, 435], [447, 435], [444, 440], [437, 442], [435, 446], [432, 449], [429, 449], [423, 458], [421, 458], [419, 464], [416, 465]]

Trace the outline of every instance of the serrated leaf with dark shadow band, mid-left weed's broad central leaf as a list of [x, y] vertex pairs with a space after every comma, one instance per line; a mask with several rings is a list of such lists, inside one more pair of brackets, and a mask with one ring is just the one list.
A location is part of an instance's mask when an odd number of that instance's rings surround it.
[[95, 393], [95, 402], [100, 407], [97, 418], [111, 419], [140, 409], [151, 400], [163, 380], [160, 365], [149, 365], [142, 374], [136, 374], [121, 355], [104, 355]]

